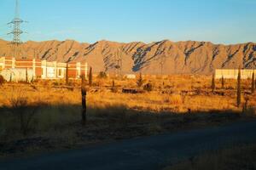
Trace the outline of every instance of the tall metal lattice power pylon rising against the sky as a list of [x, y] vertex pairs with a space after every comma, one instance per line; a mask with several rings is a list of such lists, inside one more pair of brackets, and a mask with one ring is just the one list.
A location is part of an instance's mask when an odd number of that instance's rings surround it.
[[13, 40], [11, 42], [13, 50], [14, 50], [14, 57], [19, 57], [20, 54], [20, 44], [22, 43], [20, 40], [20, 35], [23, 31], [20, 29], [20, 25], [24, 22], [24, 20], [20, 19], [20, 9], [19, 9], [19, 1], [16, 0], [15, 4], [15, 19], [8, 23], [13, 27], [13, 31], [9, 32], [9, 35], [13, 35]]

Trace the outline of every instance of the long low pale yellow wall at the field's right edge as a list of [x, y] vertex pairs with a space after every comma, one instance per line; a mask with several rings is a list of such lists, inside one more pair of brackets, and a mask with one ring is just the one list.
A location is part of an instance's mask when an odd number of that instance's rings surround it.
[[[232, 70], [232, 69], [217, 69], [215, 71], [215, 78], [227, 78], [227, 79], [236, 79], [238, 77], [238, 69]], [[241, 70], [241, 78], [247, 79], [251, 78], [253, 76], [253, 71], [256, 76], [256, 70]]]

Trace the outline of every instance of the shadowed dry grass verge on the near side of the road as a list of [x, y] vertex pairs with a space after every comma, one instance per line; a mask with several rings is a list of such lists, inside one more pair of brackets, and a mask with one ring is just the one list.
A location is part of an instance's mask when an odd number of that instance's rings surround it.
[[218, 150], [182, 161], [164, 170], [241, 170], [256, 169], [256, 145], [236, 146], [232, 149]]

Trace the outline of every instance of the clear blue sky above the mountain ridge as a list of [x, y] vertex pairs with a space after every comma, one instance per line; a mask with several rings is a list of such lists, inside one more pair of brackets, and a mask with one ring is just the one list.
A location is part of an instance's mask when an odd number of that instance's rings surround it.
[[[15, 0], [0, 0], [0, 38]], [[22, 40], [256, 42], [256, 0], [20, 0]]]

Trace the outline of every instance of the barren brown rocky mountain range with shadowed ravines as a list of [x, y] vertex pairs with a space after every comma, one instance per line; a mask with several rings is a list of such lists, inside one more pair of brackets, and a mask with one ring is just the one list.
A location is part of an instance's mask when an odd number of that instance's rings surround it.
[[[20, 55], [26, 58], [87, 61], [95, 72], [121, 71], [144, 74], [210, 74], [216, 68], [256, 69], [256, 43], [236, 45], [212, 42], [109, 42], [94, 44], [73, 40], [25, 42]], [[9, 42], [0, 40], [0, 56], [13, 56]]]

